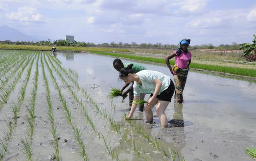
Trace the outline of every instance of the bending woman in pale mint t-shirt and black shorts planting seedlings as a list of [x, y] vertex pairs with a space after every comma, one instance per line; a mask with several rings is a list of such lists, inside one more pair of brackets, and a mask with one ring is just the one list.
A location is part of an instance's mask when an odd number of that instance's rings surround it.
[[130, 64], [122, 68], [119, 73], [119, 78], [124, 82], [134, 82], [134, 98], [127, 119], [132, 117], [137, 106], [135, 101], [140, 99], [140, 93], [151, 94], [145, 105], [146, 120], [151, 124], [153, 123], [152, 108], [157, 104], [156, 113], [160, 119], [161, 127], [167, 128], [168, 122], [164, 111], [171, 102], [175, 90], [174, 83], [170, 77], [158, 71], [143, 70], [135, 74], [132, 66], [133, 64]]

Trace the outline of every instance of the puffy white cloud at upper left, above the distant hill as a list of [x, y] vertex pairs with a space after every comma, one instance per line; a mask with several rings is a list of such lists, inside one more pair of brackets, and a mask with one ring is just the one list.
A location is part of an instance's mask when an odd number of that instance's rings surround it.
[[10, 20], [18, 20], [25, 23], [44, 23], [43, 16], [39, 14], [35, 8], [20, 7], [17, 12], [11, 12], [7, 14]]

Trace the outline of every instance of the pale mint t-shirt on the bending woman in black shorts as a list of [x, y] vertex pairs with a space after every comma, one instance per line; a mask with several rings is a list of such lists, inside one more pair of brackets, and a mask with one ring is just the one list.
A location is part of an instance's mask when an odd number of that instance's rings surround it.
[[133, 93], [134, 96], [140, 96], [140, 93], [154, 93], [156, 84], [153, 83], [153, 81], [157, 78], [162, 82], [161, 89], [158, 94], [163, 92], [168, 88], [170, 85], [170, 77], [160, 73], [158, 71], [150, 71], [150, 70], [144, 70], [136, 73], [138, 77], [140, 78], [140, 81], [142, 82], [142, 86], [138, 84], [138, 82], [134, 81], [133, 84]]

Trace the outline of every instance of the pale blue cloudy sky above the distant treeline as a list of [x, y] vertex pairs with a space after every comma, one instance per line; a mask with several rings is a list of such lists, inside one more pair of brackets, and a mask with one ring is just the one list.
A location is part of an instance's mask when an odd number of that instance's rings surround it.
[[[0, 26], [90, 43], [252, 43], [256, 0], [0, 0]], [[41, 38], [41, 39], [42, 39]]]

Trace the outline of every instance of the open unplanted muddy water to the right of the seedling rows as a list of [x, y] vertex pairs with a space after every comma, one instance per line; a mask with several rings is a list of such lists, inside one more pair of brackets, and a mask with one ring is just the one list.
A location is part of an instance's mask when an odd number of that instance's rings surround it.
[[[128, 108], [128, 99], [123, 102], [121, 98], [114, 99], [115, 109], [107, 99], [110, 86], [121, 88], [123, 85], [118, 81], [118, 72], [112, 67], [115, 58], [90, 53], [58, 53], [57, 58], [63, 67], [76, 71], [78, 83], [92, 94], [101, 108], [106, 108], [116, 121], [123, 124], [123, 128], [127, 128], [122, 115]], [[148, 70], [170, 75], [165, 66], [140, 64]], [[180, 120], [181, 126], [184, 120], [184, 127], [169, 124], [171, 128], [162, 129], [158, 117], [154, 117], [154, 124], [145, 124], [145, 115], [138, 110], [134, 118], [142, 119], [147, 133], [156, 135], [164, 146], [178, 151], [186, 161], [252, 160], [244, 147], [256, 146], [255, 91], [254, 82], [190, 72], [184, 90], [184, 104], [174, 104], [172, 98], [166, 109], [168, 120]], [[121, 151], [122, 158], [127, 153], [126, 147]]]

